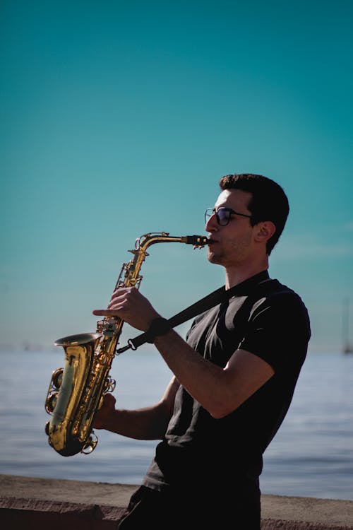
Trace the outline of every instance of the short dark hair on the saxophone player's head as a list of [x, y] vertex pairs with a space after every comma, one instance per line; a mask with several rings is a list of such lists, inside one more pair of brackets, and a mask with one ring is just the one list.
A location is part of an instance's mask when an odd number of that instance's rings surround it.
[[266, 244], [266, 252], [270, 255], [285, 228], [289, 213], [287, 195], [280, 184], [263, 175], [234, 173], [234, 175], [225, 175], [220, 179], [220, 188], [241, 189], [243, 192], [251, 193], [252, 197], [247, 205], [251, 212], [251, 226], [265, 220], [273, 222], [276, 230]]

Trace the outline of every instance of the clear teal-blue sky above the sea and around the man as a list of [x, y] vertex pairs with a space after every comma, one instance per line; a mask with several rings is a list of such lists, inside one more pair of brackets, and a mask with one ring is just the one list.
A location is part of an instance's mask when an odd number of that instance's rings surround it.
[[[0, 343], [95, 331], [136, 237], [204, 233], [220, 177], [257, 172], [291, 204], [270, 274], [338, 351], [352, 24], [350, 0], [2, 0]], [[172, 316], [222, 284], [205, 255], [151, 247], [141, 291]]]

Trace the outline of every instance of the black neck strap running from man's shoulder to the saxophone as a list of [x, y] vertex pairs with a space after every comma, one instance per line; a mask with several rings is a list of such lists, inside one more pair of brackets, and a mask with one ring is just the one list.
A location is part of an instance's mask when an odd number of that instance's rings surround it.
[[[268, 271], [262, 271], [256, 274], [255, 276], [252, 276], [251, 278], [248, 278], [247, 280], [238, 283], [237, 285], [234, 285], [234, 287], [231, 287], [230, 289], [225, 289], [224, 286], [220, 287], [219, 289], [214, 290], [213, 293], [210, 293], [204, 298], [201, 298], [201, 300], [198, 300], [194, 304], [189, 305], [189, 307], [186, 307], [186, 309], [182, 310], [181, 312], [174, 314], [174, 317], [168, 319], [167, 322], [169, 323], [171, 328], [177, 327], [179, 326], [179, 324], [183, 324], [187, 320], [196, 317], [198, 314], [210, 310], [212, 307], [215, 307], [215, 305], [221, 304], [222, 302], [229, 300], [229, 298], [232, 298], [232, 296], [251, 295], [256, 290], [256, 288], [258, 288], [258, 285], [260, 283], [268, 279]], [[136, 350], [138, 346], [141, 346], [141, 344], [148, 342], [148, 338], [149, 337], [147, 331], [138, 335], [135, 338], [129, 338], [128, 345], [124, 346], [124, 348], [117, 349], [116, 355], [124, 353], [124, 351], [130, 349]]]

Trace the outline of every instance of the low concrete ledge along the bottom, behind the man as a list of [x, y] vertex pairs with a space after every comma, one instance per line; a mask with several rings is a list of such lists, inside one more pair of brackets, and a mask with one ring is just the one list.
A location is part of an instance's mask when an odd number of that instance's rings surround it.
[[[0, 475], [6, 530], [116, 528], [136, 485]], [[263, 495], [261, 530], [353, 530], [353, 501]]]

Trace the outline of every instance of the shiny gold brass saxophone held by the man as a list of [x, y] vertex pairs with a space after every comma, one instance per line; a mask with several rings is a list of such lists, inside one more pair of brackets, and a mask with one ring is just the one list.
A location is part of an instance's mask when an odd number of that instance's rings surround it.
[[[133, 259], [121, 267], [116, 288], [139, 288], [140, 268], [148, 256], [148, 247], [165, 242], [203, 248], [208, 239], [201, 235], [172, 237], [168, 232], [150, 232], [138, 237], [135, 249], [129, 251]], [[92, 420], [102, 406], [104, 394], [115, 388], [109, 370], [123, 324], [119, 317], [105, 317], [97, 322], [95, 333], [71, 335], [55, 342], [56, 346], [64, 348], [65, 359], [64, 367], [54, 370], [49, 383], [45, 409], [52, 418], [45, 432], [49, 445], [64, 457], [79, 452], [89, 454], [97, 445]]]

